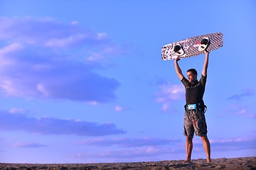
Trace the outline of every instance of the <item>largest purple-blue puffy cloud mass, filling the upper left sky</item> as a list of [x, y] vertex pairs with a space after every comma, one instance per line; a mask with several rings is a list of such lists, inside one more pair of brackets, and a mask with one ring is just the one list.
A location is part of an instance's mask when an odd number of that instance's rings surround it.
[[[1, 17], [0, 25], [0, 40], [9, 44], [0, 48], [2, 94], [114, 101], [119, 83], [95, 72], [102, 69], [97, 62], [106, 62], [107, 57], [121, 51], [110, 42], [107, 33], [51, 18]], [[87, 62], [81, 62], [81, 56], [87, 57]]]

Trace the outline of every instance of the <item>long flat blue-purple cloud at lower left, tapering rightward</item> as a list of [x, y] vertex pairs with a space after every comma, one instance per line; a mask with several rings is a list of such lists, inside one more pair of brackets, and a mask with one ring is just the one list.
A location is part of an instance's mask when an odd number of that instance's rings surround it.
[[105, 136], [124, 134], [113, 123], [93, 123], [85, 120], [34, 118], [26, 114], [0, 111], [1, 131], [22, 130], [40, 135]]

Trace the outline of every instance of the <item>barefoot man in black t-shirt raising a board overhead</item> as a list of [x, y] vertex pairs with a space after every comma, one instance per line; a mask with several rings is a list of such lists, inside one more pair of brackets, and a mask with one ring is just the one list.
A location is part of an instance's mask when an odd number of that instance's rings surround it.
[[191, 162], [191, 153], [193, 149], [193, 135], [200, 136], [203, 141], [203, 148], [206, 151], [207, 162], [210, 162], [210, 142], [207, 137], [207, 125], [204, 115], [205, 105], [203, 103], [203, 94], [206, 86], [206, 77], [208, 69], [208, 51], [204, 50], [205, 60], [201, 79], [197, 80], [196, 69], [188, 69], [186, 79], [181, 68], [178, 66], [179, 57], [174, 60], [174, 67], [178, 78], [181, 80], [186, 89], [186, 106], [184, 114], [184, 135], [186, 136], [186, 160]]

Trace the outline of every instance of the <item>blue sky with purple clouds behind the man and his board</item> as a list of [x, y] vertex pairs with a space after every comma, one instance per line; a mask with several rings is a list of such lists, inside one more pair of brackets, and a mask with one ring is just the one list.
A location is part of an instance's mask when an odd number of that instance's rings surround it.
[[[212, 157], [256, 156], [256, 2], [0, 0], [0, 162], [185, 159], [161, 46], [223, 33], [204, 101]], [[179, 62], [201, 72], [204, 56]], [[206, 158], [194, 137], [192, 159]]]

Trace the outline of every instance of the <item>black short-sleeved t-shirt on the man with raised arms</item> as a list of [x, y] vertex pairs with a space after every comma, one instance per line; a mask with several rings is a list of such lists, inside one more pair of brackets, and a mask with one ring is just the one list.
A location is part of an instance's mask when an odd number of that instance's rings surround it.
[[183, 77], [181, 82], [185, 86], [186, 89], [186, 104], [196, 104], [196, 103], [203, 103], [203, 94], [206, 87], [206, 77], [203, 75], [201, 79], [196, 82], [189, 82], [188, 79]]

